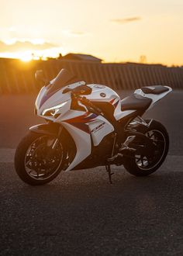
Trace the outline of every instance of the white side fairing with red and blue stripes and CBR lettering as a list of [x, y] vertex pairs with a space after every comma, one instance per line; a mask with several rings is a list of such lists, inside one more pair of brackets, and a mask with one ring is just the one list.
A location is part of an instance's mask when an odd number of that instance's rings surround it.
[[112, 124], [102, 116], [75, 110], [71, 110], [62, 116], [60, 123], [71, 134], [77, 148], [74, 161], [66, 171], [71, 171], [91, 154], [91, 141], [94, 146], [97, 146], [103, 137], [114, 130]]

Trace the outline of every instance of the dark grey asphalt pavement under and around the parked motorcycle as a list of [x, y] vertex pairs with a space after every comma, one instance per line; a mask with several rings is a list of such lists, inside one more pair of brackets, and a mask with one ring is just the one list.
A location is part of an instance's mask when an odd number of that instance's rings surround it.
[[63, 173], [39, 188], [19, 180], [16, 145], [41, 121], [34, 98], [0, 98], [0, 255], [182, 255], [183, 92], [147, 114], [170, 133], [167, 161], [147, 178], [113, 167], [114, 185], [103, 168]]

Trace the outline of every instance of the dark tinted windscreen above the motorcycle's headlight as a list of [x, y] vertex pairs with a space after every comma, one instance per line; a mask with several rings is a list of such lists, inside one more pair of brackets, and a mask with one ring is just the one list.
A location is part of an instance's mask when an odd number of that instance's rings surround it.
[[71, 85], [77, 81], [79, 80], [74, 74], [71, 74], [71, 72], [63, 68], [57, 74], [57, 77], [50, 81], [50, 85], [47, 87], [47, 92], [50, 94], [51, 92], [55, 92], [58, 89], [63, 88], [66, 85]]

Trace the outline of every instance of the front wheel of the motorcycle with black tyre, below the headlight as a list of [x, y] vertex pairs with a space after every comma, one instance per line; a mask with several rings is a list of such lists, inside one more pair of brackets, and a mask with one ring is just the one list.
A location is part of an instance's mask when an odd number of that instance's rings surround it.
[[16, 149], [16, 173], [29, 185], [51, 182], [64, 167], [64, 147], [59, 142], [54, 149], [50, 144], [56, 138], [29, 132]]

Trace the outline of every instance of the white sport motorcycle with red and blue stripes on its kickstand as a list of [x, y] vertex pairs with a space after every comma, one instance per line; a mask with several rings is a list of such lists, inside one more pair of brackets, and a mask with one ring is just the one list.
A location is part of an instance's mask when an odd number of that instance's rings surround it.
[[156, 85], [137, 89], [121, 100], [105, 85], [86, 85], [66, 69], [44, 81], [36, 99], [36, 115], [47, 123], [29, 128], [16, 149], [15, 167], [29, 185], [52, 181], [60, 171], [105, 166], [112, 183], [111, 165], [122, 165], [130, 174], [150, 175], [164, 162], [169, 147], [165, 127], [143, 119], [172, 89]]

